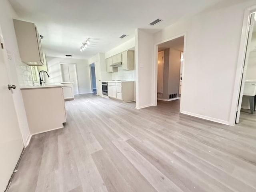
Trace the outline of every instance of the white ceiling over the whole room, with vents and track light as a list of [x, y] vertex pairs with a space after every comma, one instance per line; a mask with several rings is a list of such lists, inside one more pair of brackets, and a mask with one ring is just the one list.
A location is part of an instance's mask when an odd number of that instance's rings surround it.
[[[221, 0], [9, 0], [20, 19], [34, 22], [47, 56], [88, 59], [134, 37], [136, 28], [160, 30]], [[161, 18], [164, 21], [149, 26]], [[122, 34], [129, 36], [120, 39]], [[80, 46], [91, 38], [84, 52]]]

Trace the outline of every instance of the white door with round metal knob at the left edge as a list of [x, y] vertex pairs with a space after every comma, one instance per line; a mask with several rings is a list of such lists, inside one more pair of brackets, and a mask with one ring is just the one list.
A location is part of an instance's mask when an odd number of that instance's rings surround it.
[[0, 29], [0, 191], [4, 191], [23, 149], [22, 136], [18, 125], [7, 64], [7, 52]]

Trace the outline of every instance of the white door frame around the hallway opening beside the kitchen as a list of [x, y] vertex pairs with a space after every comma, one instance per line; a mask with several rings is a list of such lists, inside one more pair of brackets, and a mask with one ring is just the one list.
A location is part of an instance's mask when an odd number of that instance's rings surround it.
[[[187, 42], [187, 32], [184, 32], [184, 33], [181, 33], [181, 34], [178, 34], [176, 36], [173, 36], [171, 38], [168, 38], [168, 39], [165, 39], [165, 40], [162, 40], [160, 42], [157, 42], [154, 44], [154, 65], [153, 65], [153, 106], [157, 106], [157, 60], [158, 60], [158, 45], [159, 44], [162, 44], [162, 43], [165, 43], [167, 41], [170, 41], [170, 40], [174, 40], [176, 38], [179, 38], [179, 37], [182, 37], [184, 36], [184, 49], [183, 49], [183, 69], [182, 69], [182, 83], [183, 83], [183, 86], [181, 86], [181, 90], [182, 92], [184, 92], [184, 79], [185, 79], [185, 61], [186, 61], [186, 42]], [[181, 95], [180, 97], [180, 112], [182, 111], [182, 106], [183, 106], [183, 96]]]

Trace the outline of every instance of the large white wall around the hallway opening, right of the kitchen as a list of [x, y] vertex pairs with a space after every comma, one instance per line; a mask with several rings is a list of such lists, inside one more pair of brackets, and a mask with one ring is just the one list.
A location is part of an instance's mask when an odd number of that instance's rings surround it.
[[[150, 93], [150, 89], [147, 89], [150, 80], [156, 78], [156, 74], [151, 72], [153, 44], [187, 32], [181, 111], [208, 120], [232, 124], [230, 110], [243, 14], [245, 8], [255, 5], [256, 2], [243, 1], [236, 5], [232, 4], [234, 1], [225, 1], [188, 20], [168, 26], [154, 34], [153, 42], [150, 42], [153, 37], [149, 33], [138, 29], [139, 55], [136, 62], [138, 66], [144, 65], [138, 69], [138, 75], [144, 77], [144, 80], [138, 78], [137, 91], [145, 93], [137, 94], [137, 103], [150, 105], [154, 102], [155, 93]], [[140, 54], [143, 50], [144, 53]], [[154, 65], [155, 63], [156, 61]]]

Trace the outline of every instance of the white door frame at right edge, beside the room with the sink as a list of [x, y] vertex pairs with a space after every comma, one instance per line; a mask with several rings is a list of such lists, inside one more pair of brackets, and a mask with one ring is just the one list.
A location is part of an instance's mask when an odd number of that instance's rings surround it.
[[242, 34], [240, 40], [240, 47], [238, 52], [238, 63], [236, 68], [236, 77], [234, 82], [234, 92], [230, 109], [229, 125], [235, 125], [236, 114], [238, 111], [238, 100], [240, 98], [240, 91], [244, 91], [244, 83], [242, 82], [243, 68], [247, 67], [248, 63], [244, 66], [246, 46], [248, 40], [248, 29], [250, 26], [250, 15], [256, 12], [256, 5], [246, 8], [244, 10], [244, 20], [242, 25]]

